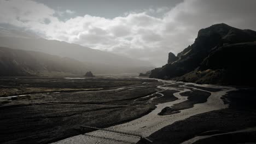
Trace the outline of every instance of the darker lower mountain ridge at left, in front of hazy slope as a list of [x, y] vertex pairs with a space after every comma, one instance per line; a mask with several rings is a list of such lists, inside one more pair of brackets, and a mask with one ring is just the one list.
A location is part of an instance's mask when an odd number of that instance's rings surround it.
[[84, 63], [42, 52], [0, 47], [0, 76], [83, 75]]

